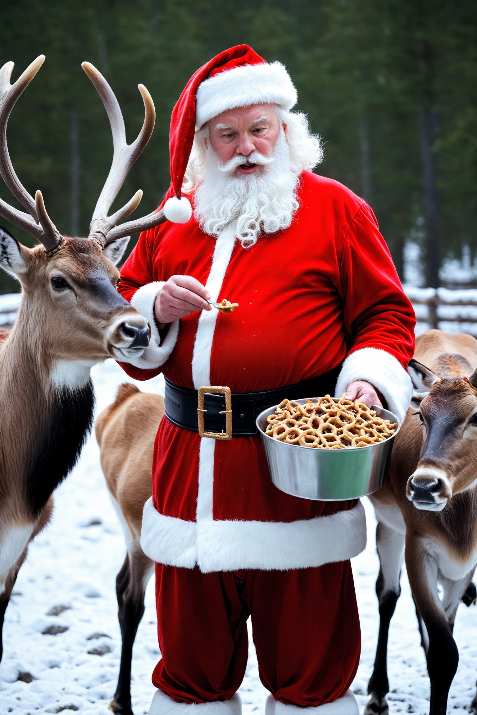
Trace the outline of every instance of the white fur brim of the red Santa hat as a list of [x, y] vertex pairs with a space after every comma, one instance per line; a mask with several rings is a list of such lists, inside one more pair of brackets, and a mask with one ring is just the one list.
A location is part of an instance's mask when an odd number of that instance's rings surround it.
[[291, 109], [296, 102], [297, 91], [281, 62], [245, 64], [215, 74], [199, 85], [195, 125], [200, 129], [212, 117], [235, 107], [277, 104]]

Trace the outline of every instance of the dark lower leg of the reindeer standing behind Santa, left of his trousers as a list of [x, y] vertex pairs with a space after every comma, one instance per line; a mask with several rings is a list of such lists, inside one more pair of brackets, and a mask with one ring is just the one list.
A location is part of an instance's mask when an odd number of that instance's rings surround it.
[[116, 578], [119, 626], [122, 649], [119, 677], [109, 709], [117, 715], [133, 715], [131, 706], [132, 646], [137, 628], [144, 615], [144, 592], [154, 571], [154, 562], [134, 543]]

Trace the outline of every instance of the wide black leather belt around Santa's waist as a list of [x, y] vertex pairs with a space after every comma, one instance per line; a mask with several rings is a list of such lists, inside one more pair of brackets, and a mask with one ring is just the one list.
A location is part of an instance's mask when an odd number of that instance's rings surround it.
[[[232, 436], [251, 437], [257, 434], [255, 420], [263, 410], [273, 405], [278, 405], [282, 400], [301, 400], [305, 398], [323, 397], [323, 395], [333, 395], [336, 380], [340, 373], [341, 365], [338, 365], [329, 373], [319, 375], [311, 380], [303, 380], [295, 385], [285, 385], [277, 390], [267, 390], [262, 393], [231, 393], [232, 398]], [[228, 390], [228, 388], [214, 388]], [[203, 391], [203, 388], [201, 388]], [[230, 393], [230, 391], [229, 391]], [[166, 378], [166, 390], [164, 395], [165, 413], [169, 422], [185, 430], [199, 432], [199, 421], [197, 419], [197, 408], [199, 392], [174, 385]], [[212, 394], [205, 392], [204, 405], [201, 409], [204, 415], [204, 425], [207, 436], [225, 438], [227, 432], [227, 404], [225, 394]], [[220, 437], [219, 435], [222, 435]], [[230, 434], [228, 436], [230, 438]]]

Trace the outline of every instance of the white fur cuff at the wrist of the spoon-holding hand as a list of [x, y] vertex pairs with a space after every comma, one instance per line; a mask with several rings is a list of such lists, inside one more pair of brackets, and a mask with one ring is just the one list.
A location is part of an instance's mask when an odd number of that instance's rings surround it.
[[138, 288], [131, 298], [131, 305], [136, 308], [137, 312], [149, 320], [149, 325], [151, 326], [149, 347], [144, 350], [140, 358], [128, 358], [124, 360], [124, 363], [134, 365], [134, 368], [140, 368], [141, 370], [160, 368], [160, 366], [166, 362], [167, 358], [169, 358], [177, 342], [179, 320], [174, 320], [174, 322], [169, 325], [169, 331], [162, 343], [159, 330], [157, 330], [157, 325], [154, 320], [154, 301], [163, 285], [164, 281], [147, 283]]

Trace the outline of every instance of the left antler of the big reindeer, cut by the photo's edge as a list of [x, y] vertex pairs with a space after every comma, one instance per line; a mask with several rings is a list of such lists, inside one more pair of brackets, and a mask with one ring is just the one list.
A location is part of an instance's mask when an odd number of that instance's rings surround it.
[[16, 176], [6, 144], [6, 123], [11, 110], [44, 63], [44, 59], [44, 54], [37, 57], [14, 84], [10, 84], [14, 63], [6, 62], [0, 69], [0, 174], [14, 197], [28, 211], [26, 214], [0, 199], [0, 215], [37, 238], [44, 245], [45, 252], [49, 253], [62, 245], [62, 236], [46, 213], [41, 192], [37, 191], [33, 199]]

